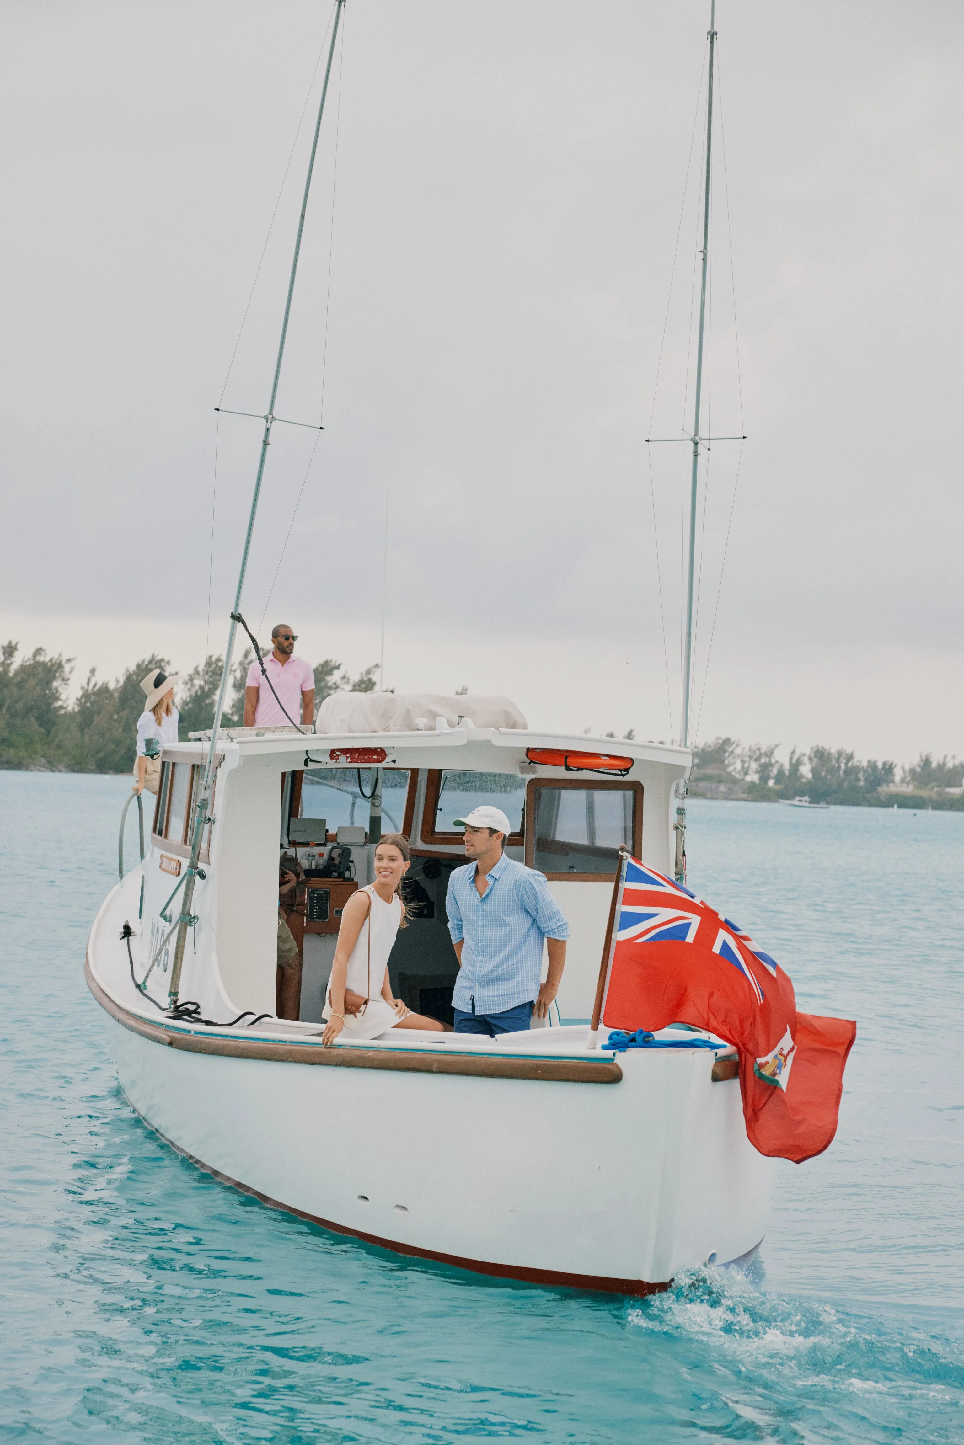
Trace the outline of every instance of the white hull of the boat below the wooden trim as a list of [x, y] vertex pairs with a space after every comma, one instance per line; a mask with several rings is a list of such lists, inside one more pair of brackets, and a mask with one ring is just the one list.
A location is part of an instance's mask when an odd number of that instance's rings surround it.
[[124, 1094], [176, 1149], [403, 1254], [647, 1293], [766, 1228], [772, 1160], [704, 1049], [621, 1055], [621, 1081], [600, 1085], [186, 1052], [116, 1019], [110, 1033]]

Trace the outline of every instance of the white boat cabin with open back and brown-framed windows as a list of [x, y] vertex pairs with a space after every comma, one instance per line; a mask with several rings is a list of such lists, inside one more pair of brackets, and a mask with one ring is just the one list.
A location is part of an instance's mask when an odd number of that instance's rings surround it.
[[[279, 870], [289, 868], [299, 876], [288, 923], [304, 957], [301, 1019], [321, 1020], [344, 903], [373, 880], [379, 838], [400, 832], [412, 850], [410, 922], [389, 962], [392, 988], [412, 1010], [451, 1023], [458, 964], [445, 896], [452, 870], [465, 863], [455, 819], [494, 803], [512, 824], [509, 857], [545, 873], [569, 922], [552, 1022], [588, 1020], [619, 848], [672, 873], [675, 785], [689, 753], [475, 727], [461, 715], [455, 725], [444, 714], [431, 730], [423, 718], [418, 724], [340, 734], [289, 727], [220, 733], [182, 997], [198, 1000], [202, 1012], [275, 1012]], [[208, 744], [210, 734], [194, 734], [163, 750], [145, 863], [142, 968], [169, 928], [162, 913], [171, 915], [169, 896], [188, 866]], [[176, 916], [176, 899], [172, 907]], [[173, 939], [160, 959], [160, 987], [172, 954]]]

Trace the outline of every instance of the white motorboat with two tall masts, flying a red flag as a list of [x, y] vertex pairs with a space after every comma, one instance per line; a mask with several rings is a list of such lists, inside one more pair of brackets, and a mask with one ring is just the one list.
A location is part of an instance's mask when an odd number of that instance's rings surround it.
[[[124, 866], [121, 818], [119, 881], [92, 923], [85, 977], [132, 1108], [214, 1178], [397, 1254], [647, 1295], [684, 1269], [749, 1260], [766, 1231], [773, 1179], [773, 1160], [747, 1140], [728, 1043], [675, 1026], [658, 1036], [672, 1048], [620, 1051], [598, 1032], [620, 857], [685, 877], [700, 384], [688, 438], [679, 744], [532, 730], [507, 699], [471, 695], [343, 695], [325, 701], [311, 730], [223, 725], [343, 7], [335, 0], [212, 724], [165, 746], [133, 868]], [[714, 43], [711, 19], [707, 197]], [[708, 220], [700, 366], [707, 254]], [[371, 879], [386, 816], [410, 840], [416, 915], [392, 954], [392, 987], [415, 1010], [451, 1014], [457, 961], [445, 892], [464, 863], [454, 819], [473, 795], [509, 814], [509, 855], [545, 873], [569, 920], [549, 1019], [497, 1039], [406, 1030], [369, 1042], [343, 1035], [324, 1048], [321, 1001], [338, 918]], [[305, 871], [298, 1020], [276, 1013], [286, 850]]]

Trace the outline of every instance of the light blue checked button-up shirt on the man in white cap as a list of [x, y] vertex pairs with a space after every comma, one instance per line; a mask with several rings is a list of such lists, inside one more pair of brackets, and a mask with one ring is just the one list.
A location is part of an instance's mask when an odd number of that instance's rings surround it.
[[445, 910], [452, 942], [464, 939], [452, 1004], [471, 1013], [474, 1000], [475, 1013], [503, 1013], [535, 1001], [543, 939], [569, 936], [545, 873], [525, 868], [503, 853], [480, 897], [475, 864], [467, 863], [448, 880]]

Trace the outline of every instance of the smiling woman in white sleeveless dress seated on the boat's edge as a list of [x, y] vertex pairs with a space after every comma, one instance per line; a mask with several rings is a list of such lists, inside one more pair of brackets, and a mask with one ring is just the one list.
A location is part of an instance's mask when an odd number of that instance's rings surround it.
[[387, 834], [374, 850], [374, 883], [353, 893], [344, 906], [322, 1012], [324, 1045], [334, 1043], [343, 1029], [354, 1039], [377, 1039], [390, 1029], [444, 1032], [436, 1019], [410, 1013], [393, 998], [389, 983], [389, 954], [405, 928], [402, 879], [410, 860], [406, 840]]

